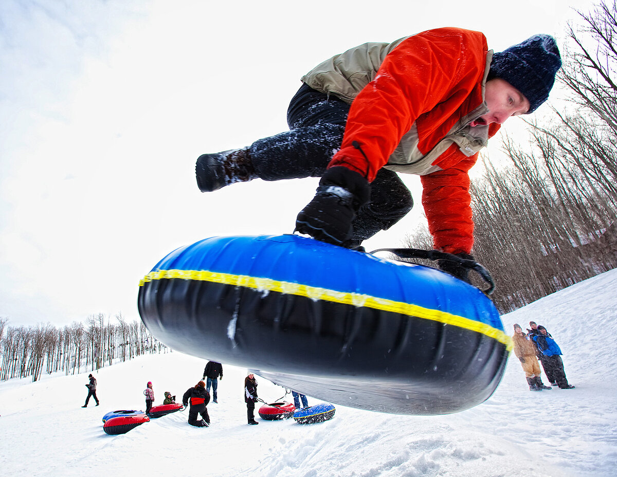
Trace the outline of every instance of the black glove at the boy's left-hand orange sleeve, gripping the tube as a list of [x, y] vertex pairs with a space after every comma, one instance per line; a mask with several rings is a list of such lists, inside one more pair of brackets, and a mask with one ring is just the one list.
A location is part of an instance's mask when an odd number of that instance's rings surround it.
[[344, 166], [331, 167], [321, 177], [313, 200], [300, 210], [296, 230], [344, 246], [351, 239], [358, 209], [369, 197], [368, 181], [362, 174]]

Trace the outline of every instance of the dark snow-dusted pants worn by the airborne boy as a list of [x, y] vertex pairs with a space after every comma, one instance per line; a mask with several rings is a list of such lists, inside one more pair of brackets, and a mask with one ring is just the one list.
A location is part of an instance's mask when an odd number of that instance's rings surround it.
[[[267, 181], [321, 177], [341, 148], [350, 105], [302, 85], [287, 111], [289, 131], [255, 141], [250, 149], [257, 176]], [[412, 210], [413, 199], [397, 173], [381, 168], [370, 201], [358, 211], [352, 241], [387, 230]]]

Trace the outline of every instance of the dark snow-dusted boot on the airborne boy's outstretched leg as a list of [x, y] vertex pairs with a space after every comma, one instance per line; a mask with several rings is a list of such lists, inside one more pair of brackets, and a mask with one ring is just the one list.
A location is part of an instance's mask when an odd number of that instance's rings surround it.
[[217, 191], [235, 182], [257, 178], [249, 157], [249, 148], [202, 154], [195, 165], [197, 187], [202, 192]]

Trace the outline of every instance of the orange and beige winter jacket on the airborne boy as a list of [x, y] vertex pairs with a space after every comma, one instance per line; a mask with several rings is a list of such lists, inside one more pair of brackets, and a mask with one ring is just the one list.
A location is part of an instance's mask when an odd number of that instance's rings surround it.
[[469, 126], [487, 112], [491, 57], [482, 33], [438, 28], [391, 44], [367, 43], [302, 78], [351, 102], [341, 149], [328, 167], [343, 165], [368, 181], [381, 167], [421, 175], [434, 247], [450, 253], [471, 252], [468, 171], [499, 130]]

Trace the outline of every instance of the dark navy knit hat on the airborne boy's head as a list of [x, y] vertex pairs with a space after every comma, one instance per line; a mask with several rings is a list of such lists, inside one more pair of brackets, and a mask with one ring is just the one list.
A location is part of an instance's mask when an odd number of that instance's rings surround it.
[[559, 68], [555, 38], [539, 34], [493, 54], [488, 79], [502, 78], [523, 93], [531, 105], [529, 114], [549, 99]]

